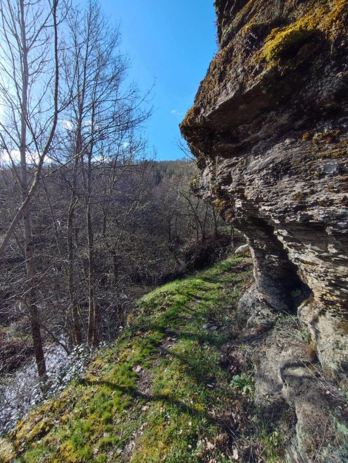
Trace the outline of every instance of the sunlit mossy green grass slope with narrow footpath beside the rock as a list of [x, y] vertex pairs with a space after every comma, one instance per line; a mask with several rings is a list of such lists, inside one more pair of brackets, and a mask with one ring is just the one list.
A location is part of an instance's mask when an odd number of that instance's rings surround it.
[[[4, 461], [230, 461], [231, 417], [223, 417], [240, 390], [221, 347], [247, 262], [229, 258], [143, 297], [140, 315], [84, 380], [2, 442]], [[218, 330], [203, 328], [212, 321]]]

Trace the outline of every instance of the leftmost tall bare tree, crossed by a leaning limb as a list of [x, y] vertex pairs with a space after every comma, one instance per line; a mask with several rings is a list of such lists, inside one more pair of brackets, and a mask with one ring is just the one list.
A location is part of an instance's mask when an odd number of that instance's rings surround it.
[[0, 100], [3, 109], [0, 140], [22, 201], [0, 245], [0, 255], [22, 219], [27, 276], [24, 300], [30, 311], [33, 346], [41, 377], [45, 377], [46, 367], [35, 295], [30, 204], [58, 121], [58, 2], [0, 0]]

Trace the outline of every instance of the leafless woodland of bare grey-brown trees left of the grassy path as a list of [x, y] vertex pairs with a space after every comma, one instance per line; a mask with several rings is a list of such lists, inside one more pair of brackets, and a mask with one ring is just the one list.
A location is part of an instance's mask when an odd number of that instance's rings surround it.
[[45, 382], [48, 346], [70, 354], [115, 340], [138, 297], [212, 263], [230, 236], [221, 208], [194, 195], [184, 145], [178, 161], [149, 149], [151, 90], [127, 84], [119, 31], [97, 2], [0, 7], [6, 385], [32, 355]]

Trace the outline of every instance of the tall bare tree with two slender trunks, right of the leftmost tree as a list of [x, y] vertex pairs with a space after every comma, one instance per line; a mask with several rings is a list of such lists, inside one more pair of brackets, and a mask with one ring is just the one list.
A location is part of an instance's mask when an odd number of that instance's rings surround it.
[[[68, 260], [72, 269], [74, 257], [71, 237], [74, 209], [82, 199], [88, 244], [87, 337], [90, 344], [97, 345], [100, 313], [95, 267], [95, 230], [92, 220], [96, 178], [93, 171], [101, 171], [101, 166], [105, 169], [106, 164], [112, 168], [110, 156], [115, 163], [115, 158], [118, 159], [122, 152], [119, 150], [120, 143], [126, 143], [127, 135], [130, 136], [149, 113], [140, 109], [143, 100], [137, 98], [134, 86], [126, 90], [123, 88], [128, 63], [117, 52], [118, 30], [110, 27], [99, 4], [91, 0], [83, 13], [77, 8], [72, 8], [68, 16], [68, 30], [70, 43], [67, 46], [65, 75], [66, 86], [74, 98], [64, 114], [64, 120], [71, 139], [71, 156], [75, 159], [68, 213]], [[110, 153], [107, 163], [103, 154], [106, 151]], [[80, 185], [76, 184], [77, 170], [82, 178]], [[71, 270], [69, 288], [75, 335], [79, 340], [81, 336]]]

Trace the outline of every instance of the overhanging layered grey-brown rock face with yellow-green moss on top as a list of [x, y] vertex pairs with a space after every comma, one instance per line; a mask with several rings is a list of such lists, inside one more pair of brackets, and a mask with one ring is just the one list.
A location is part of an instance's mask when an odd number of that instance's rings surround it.
[[[347, 353], [345, 0], [216, 0], [219, 51], [181, 131], [197, 194], [245, 234], [249, 323], [297, 313], [329, 375]], [[256, 323], [256, 322], [255, 322]]]

